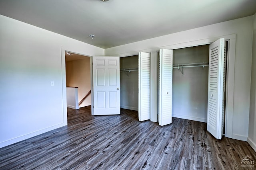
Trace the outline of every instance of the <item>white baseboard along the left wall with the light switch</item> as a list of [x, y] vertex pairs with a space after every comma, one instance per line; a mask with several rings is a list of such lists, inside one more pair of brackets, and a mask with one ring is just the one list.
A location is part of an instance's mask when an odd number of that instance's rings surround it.
[[23, 141], [23, 140], [25, 140], [25, 139], [34, 137], [34, 136], [36, 136], [36, 135], [40, 135], [40, 134], [42, 134], [42, 133], [45, 133], [45, 132], [48, 132], [48, 131], [57, 129], [57, 128], [62, 127], [62, 126], [65, 126], [65, 125], [66, 125], [66, 124], [64, 124], [64, 123], [60, 123], [60, 124], [58, 124], [58, 125], [54, 125], [54, 126], [51, 126], [51, 127], [45, 128], [45, 129], [41, 129], [41, 130], [39, 130], [39, 131], [35, 131], [35, 132], [32, 132], [32, 133], [28, 133], [28, 134], [26, 134], [26, 135], [22, 135], [22, 136], [20, 136], [20, 137], [16, 137], [16, 138], [13, 138], [13, 139], [10, 139], [10, 140], [7, 140], [7, 141], [0, 142], [0, 148], [6, 147], [6, 146], [8, 146], [8, 145], [12, 145], [12, 144], [14, 144], [14, 143]]

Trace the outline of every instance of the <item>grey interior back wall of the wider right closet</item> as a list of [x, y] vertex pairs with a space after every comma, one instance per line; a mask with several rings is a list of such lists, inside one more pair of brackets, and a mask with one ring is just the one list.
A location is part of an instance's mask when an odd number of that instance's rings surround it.
[[[209, 45], [173, 50], [173, 64], [208, 63]], [[180, 70], [179, 70], [180, 69]], [[173, 68], [172, 117], [207, 122], [208, 66]]]

